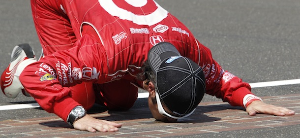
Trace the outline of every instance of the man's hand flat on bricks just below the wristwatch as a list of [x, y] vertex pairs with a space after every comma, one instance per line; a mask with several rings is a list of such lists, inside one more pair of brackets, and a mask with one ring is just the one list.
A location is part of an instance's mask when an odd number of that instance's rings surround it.
[[77, 130], [89, 131], [89, 132], [116, 132], [122, 124], [114, 123], [111, 121], [100, 120], [86, 115], [83, 118], [78, 119], [73, 123], [73, 126]]

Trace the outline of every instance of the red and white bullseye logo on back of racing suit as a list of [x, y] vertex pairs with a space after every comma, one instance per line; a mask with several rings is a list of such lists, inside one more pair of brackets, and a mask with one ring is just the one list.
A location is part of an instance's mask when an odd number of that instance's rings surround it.
[[168, 16], [168, 11], [153, 0], [98, 0], [112, 16], [138, 25], [154, 25]]

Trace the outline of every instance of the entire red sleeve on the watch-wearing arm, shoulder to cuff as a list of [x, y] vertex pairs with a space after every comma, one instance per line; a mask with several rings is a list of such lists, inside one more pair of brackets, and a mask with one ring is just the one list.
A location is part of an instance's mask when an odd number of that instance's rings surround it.
[[105, 80], [107, 59], [101, 54], [102, 45], [95, 41], [84, 35], [74, 48], [48, 55], [24, 69], [20, 81], [43, 109], [66, 120], [70, 110], [79, 105], [68, 87]]

